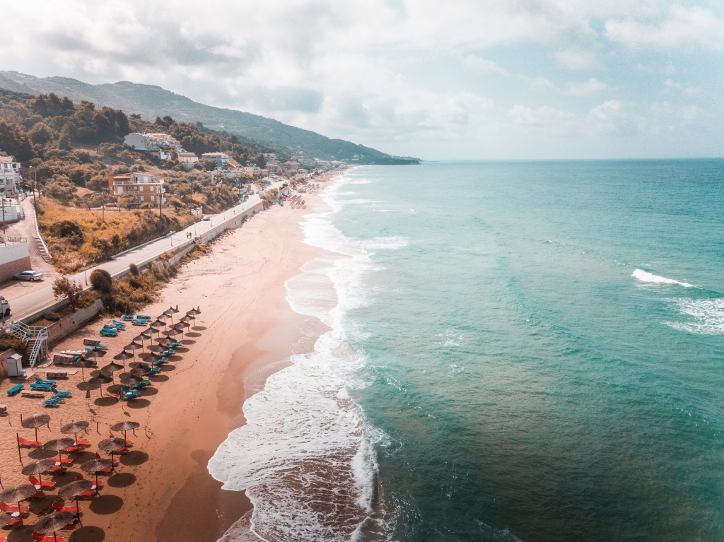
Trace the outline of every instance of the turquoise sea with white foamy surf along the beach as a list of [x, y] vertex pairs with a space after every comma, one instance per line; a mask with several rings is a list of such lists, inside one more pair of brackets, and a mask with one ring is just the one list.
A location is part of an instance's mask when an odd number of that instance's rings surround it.
[[300, 227], [224, 542], [724, 540], [724, 160], [358, 166]]

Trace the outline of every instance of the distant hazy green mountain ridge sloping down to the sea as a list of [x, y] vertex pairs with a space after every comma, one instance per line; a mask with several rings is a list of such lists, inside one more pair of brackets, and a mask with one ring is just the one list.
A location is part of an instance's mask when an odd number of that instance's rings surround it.
[[[258, 144], [274, 148], [282, 153], [303, 151], [307, 158], [325, 160], [351, 160], [363, 155], [362, 164], [417, 164], [414, 158], [397, 158], [376, 149], [340, 139], [329, 139], [310, 130], [282, 124], [260, 115], [206, 106], [190, 98], [172, 93], [154, 85], [121, 81], [103, 85], [71, 79], [69, 77], [34, 77], [18, 72], [0, 72], [0, 88], [21, 93], [55, 93], [72, 101], [91, 101], [100, 106], [122, 109], [127, 114], [139, 114], [141, 118], [173, 117], [179, 122], [202, 122], [214, 130], [224, 130], [242, 138], [242, 143], [252, 147]], [[246, 141], [249, 140], [249, 141]]]

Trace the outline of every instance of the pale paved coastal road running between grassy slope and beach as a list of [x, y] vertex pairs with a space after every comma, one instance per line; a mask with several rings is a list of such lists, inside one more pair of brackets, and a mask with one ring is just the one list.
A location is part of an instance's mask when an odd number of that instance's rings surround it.
[[[157, 256], [167, 252], [167, 250], [172, 250], [173, 248], [179, 247], [179, 245], [192, 242], [193, 237], [208, 232], [210, 229], [218, 226], [225, 219], [230, 219], [235, 213], [244, 211], [259, 201], [260, 199], [258, 195], [250, 195], [248, 200], [244, 203], [240, 203], [238, 206], [224, 211], [224, 213], [210, 215], [210, 221], [199, 221], [195, 224], [191, 224], [187, 228], [182, 229], [180, 232], [175, 232], [174, 234], [170, 234], [166, 237], [150, 242], [148, 245], [132, 249], [117, 258], [100, 263], [98, 266], [93, 268], [88, 268], [85, 273], [80, 272], [74, 275], [69, 275], [68, 278], [85, 286], [85, 284], [88, 284], [86, 276], [90, 276], [90, 272], [96, 268], [105, 269], [111, 274], [111, 276], [116, 276], [117, 274], [126, 271], [131, 263], [138, 265], [139, 263], [153, 260]], [[188, 239], [188, 233], [191, 234], [191, 240]], [[23, 287], [21, 288], [20, 284], [13, 285], [13, 287], [7, 289], [7, 291], [0, 292], [10, 303], [12, 313], [9, 318], [12, 318], [13, 320], [20, 320], [26, 316], [30, 316], [38, 310], [41, 310], [42, 308], [45, 308], [55, 302], [51, 280], [39, 281], [36, 283], [23, 282], [22, 286]]]

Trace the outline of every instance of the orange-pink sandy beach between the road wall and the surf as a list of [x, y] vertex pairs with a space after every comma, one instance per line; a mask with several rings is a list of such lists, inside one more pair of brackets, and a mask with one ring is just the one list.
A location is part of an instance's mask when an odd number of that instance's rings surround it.
[[[319, 190], [329, 184], [329, 179], [321, 183]], [[291, 310], [284, 287], [286, 279], [319, 253], [302, 242], [299, 230], [300, 217], [313, 212], [317, 195], [302, 196], [306, 208], [273, 206], [253, 216], [240, 229], [226, 232], [211, 245], [209, 253], [181, 268], [158, 302], [143, 308], [143, 313], [158, 316], [169, 305], [178, 305], [178, 316], [182, 316], [199, 307], [201, 315], [185, 334], [177, 355], [158, 376], [151, 377], [153, 386], [145, 389], [140, 399], [122, 403], [109, 397], [107, 391], [100, 397], [96, 388], [87, 402], [79, 370], [58, 385], [61, 390], [72, 391], [72, 399], [61, 407], [45, 408], [38, 405], [37, 399], [5, 399], [4, 392], [13, 382], [3, 381], [2, 402], [7, 403], [9, 412], [0, 418], [0, 476], [4, 488], [28, 483], [28, 477], [20, 473], [15, 433], [33, 439], [35, 432], [22, 428], [21, 414], [51, 416], [50, 430], [47, 426], [38, 428], [38, 439], [43, 442], [64, 436], [59, 432], [64, 423], [90, 421], [88, 435], [83, 435], [91, 442], [88, 452], [76, 454], [77, 460], [67, 473], [43, 477], [56, 481], [57, 486], [74, 480], [78, 473], [88, 478], [77, 467], [97, 451], [98, 441], [109, 437], [109, 424], [132, 420], [141, 425], [135, 436], [128, 433], [134, 446], [120, 457], [116, 473], [104, 477], [100, 496], [81, 501], [83, 527], [77, 525], [59, 535], [78, 542], [216, 541], [248, 512], [251, 502], [245, 494], [222, 491], [221, 483], [206, 470], [206, 462], [229, 431], [245, 423], [242, 406], [249, 392], [245, 379], [258, 389], [290, 355], [310, 347], [310, 339], [300, 332], [306, 317]], [[84, 336], [98, 337], [104, 321], [90, 323], [52, 350], [79, 349]], [[141, 329], [129, 325], [118, 336], [104, 338], [109, 349], [106, 356], [98, 357], [98, 367], [109, 363]], [[86, 379], [89, 373], [86, 369]], [[116, 377], [120, 373], [115, 373]], [[44, 378], [42, 373], [38, 376]], [[21, 453], [23, 465], [41, 457], [38, 450], [22, 449]], [[104, 452], [101, 455], [106, 456]], [[31, 500], [25, 527], [4, 529], [1, 535], [7, 535], [9, 541], [29, 540], [30, 526], [38, 515], [52, 511], [54, 501], [63, 502], [56, 490]]]

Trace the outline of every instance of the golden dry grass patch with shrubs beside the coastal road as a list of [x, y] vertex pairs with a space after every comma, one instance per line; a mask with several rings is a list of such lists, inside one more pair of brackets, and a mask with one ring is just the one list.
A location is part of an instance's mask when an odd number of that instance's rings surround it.
[[63, 206], [51, 198], [43, 198], [38, 206], [38, 225], [61, 273], [79, 271], [93, 261], [150, 241], [172, 230], [193, 223], [193, 215], [182, 211], [108, 211], [105, 221], [101, 211]]

